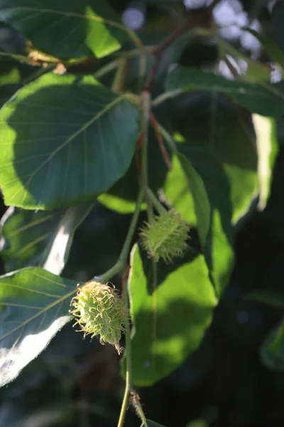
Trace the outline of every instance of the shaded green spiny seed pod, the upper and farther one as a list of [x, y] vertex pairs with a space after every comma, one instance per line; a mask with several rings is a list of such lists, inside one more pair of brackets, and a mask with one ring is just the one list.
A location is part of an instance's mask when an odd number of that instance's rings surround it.
[[141, 230], [143, 248], [158, 262], [162, 258], [170, 263], [175, 256], [182, 256], [187, 248], [189, 225], [175, 211], [155, 216]]

